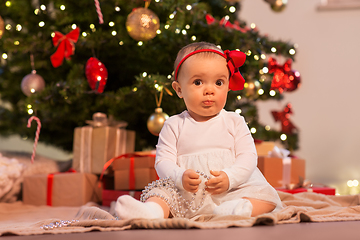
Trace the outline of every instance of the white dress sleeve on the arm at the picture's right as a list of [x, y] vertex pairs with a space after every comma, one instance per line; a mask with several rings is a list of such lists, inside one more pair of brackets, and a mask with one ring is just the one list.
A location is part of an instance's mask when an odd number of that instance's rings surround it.
[[257, 153], [254, 139], [243, 117], [237, 116], [234, 129], [235, 163], [223, 171], [229, 177], [229, 189], [247, 182], [257, 167]]

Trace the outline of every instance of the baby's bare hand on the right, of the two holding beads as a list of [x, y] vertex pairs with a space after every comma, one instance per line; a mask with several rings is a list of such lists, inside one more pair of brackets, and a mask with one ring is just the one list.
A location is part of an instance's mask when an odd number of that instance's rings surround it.
[[226, 192], [229, 188], [229, 177], [223, 171], [213, 171], [210, 173], [214, 176], [205, 182], [206, 190], [211, 194], [220, 194]]

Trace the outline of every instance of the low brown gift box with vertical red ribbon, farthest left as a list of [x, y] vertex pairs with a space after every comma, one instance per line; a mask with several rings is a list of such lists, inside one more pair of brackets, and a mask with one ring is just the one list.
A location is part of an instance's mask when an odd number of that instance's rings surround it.
[[98, 177], [91, 173], [37, 174], [24, 178], [23, 202], [31, 205], [81, 206], [101, 201]]

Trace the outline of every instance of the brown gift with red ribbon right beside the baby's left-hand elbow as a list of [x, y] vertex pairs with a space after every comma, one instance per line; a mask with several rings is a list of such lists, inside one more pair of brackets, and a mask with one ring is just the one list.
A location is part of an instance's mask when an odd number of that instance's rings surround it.
[[155, 168], [155, 154], [125, 154], [112, 163], [115, 190], [142, 190], [158, 179]]

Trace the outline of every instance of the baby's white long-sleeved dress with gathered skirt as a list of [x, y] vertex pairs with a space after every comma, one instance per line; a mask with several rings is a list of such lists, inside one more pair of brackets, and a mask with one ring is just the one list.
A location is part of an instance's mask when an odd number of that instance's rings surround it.
[[[155, 169], [164, 180], [149, 185], [142, 201], [161, 197], [175, 217], [212, 214], [221, 203], [243, 197], [270, 202], [276, 209], [282, 206], [276, 190], [257, 168], [254, 140], [244, 118], [234, 112], [222, 110], [205, 122], [195, 121], [187, 111], [167, 119], [156, 146]], [[193, 195], [182, 186], [186, 169], [198, 170], [205, 177], [211, 175], [210, 170], [224, 171], [229, 189], [211, 195], [203, 190], [203, 178]]]

